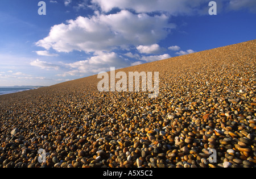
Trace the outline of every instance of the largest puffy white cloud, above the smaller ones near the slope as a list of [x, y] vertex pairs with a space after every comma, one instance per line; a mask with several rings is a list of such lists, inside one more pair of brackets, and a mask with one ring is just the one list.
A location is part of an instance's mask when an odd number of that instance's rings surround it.
[[57, 52], [112, 51], [130, 45], [150, 45], [166, 38], [174, 24], [168, 23], [168, 16], [133, 14], [122, 10], [117, 14], [79, 16], [53, 26], [49, 35], [36, 45]]

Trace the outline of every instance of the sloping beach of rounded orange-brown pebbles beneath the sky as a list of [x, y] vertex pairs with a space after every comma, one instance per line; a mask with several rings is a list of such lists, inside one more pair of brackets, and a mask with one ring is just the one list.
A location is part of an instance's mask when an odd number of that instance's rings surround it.
[[159, 72], [158, 97], [97, 75], [0, 95], [0, 168], [256, 167], [256, 40], [118, 71]]

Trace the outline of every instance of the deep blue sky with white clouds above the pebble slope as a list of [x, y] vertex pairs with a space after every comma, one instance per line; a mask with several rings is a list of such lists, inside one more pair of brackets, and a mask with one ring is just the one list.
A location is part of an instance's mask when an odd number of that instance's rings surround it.
[[255, 0], [214, 1], [217, 15], [208, 0], [39, 2], [0, 1], [0, 86], [50, 86], [256, 39]]

